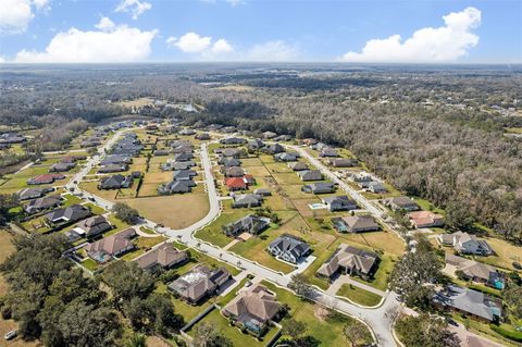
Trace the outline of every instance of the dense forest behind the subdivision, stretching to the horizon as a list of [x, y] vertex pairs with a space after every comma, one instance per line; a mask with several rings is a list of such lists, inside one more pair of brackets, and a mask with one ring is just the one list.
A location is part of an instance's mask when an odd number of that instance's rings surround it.
[[[140, 97], [190, 101], [206, 110], [148, 114], [346, 146], [399, 189], [446, 208], [450, 224], [471, 230], [480, 222], [522, 243], [522, 148], [504, 136], [522, 117], [492, 109], [520, 110], [520, 66], [3, 69], [0, 124], [45, 128], [57, 116], [95, 123], [128, 112], [116, 101]], [[46, 142], [58, 136], [47, 133]]]

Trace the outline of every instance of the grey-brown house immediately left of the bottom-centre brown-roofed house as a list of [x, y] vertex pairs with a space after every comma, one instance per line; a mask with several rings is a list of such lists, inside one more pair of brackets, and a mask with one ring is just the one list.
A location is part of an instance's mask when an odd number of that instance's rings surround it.
[[213, 295], [231, 277], [231, 273], [225, 268], [211, 270], [204, 265], [196, 265], [171, 282], [167, 287], [182, 299], [198, 303], [204, 297]]

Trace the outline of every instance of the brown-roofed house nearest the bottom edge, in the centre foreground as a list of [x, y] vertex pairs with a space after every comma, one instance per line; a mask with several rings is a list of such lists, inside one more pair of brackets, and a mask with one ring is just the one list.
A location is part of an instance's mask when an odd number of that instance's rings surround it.
[[281, 305], [277, 302], [275, 294], [258, 284], [241, 292], [221, 312], [235, 323], [260, 334], [269, 322], [277, 319]]

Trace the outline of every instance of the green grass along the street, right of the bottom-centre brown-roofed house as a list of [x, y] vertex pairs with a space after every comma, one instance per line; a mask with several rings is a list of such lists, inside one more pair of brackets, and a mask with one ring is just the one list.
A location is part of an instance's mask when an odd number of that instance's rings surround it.
[[[315, 337], [321, 342], [321, 346], [348, 346], [349, 343], [343, 335], [343, 329], [346, 324], [361, 324], [361, 329], [365, 329], [362, 323], [350, 317], [327, 314], [328, 310], [308, 301], [303, 301], [293, 293], [276, 287], [270, 282], [262, 282], [270, 290], [276, 294], [279, 302], [287, 303], [290, 307], [290, 317], [304, 322], [307, 324], [307, 334]], [[361, 345], [372, 343], [371, 334], [368, 332], [368, 338], [359, 342]]]

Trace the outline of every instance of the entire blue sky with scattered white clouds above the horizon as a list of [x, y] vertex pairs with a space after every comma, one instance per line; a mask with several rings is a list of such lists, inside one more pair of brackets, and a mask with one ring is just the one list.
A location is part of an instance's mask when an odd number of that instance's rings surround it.
[[522, 63], [522, 0], [0, 0], [0, 62]]

